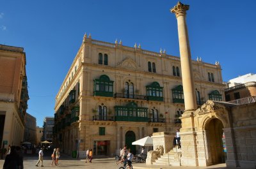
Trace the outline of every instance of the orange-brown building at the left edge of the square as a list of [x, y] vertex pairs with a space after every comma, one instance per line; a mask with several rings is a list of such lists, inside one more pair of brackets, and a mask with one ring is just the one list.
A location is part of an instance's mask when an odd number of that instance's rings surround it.
[[[22, 47], [0, 45], [0, 143], [20, 145], [28, 108], [26, 53]], [[7, 145], [6, 145], [7, 144]]]

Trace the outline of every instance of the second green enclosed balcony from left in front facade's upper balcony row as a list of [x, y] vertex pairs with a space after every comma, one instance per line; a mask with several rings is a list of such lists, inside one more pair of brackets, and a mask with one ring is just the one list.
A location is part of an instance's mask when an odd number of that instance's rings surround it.
[[146, 86], [148, 100], [163, 101], [163, 87], [158, 82]]

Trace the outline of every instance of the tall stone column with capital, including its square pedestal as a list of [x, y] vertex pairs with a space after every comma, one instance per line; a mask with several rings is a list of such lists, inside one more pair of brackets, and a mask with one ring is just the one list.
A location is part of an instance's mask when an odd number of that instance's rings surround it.
[[198, 166], [194, 123], [194, 111], [196, 110], [197, 105], [188, 40], [188, 29], [186, 25], [187, 10], [189, 10], [189, 5], [182, 4], [180, 2], [170, 9], [172, 13], [175, 13], [178, 24], [180, 64], [185, 102], [185, 112], [180, 118], [182, 120], [182, 128], [180, 129], [180, 142], [182, 145], [181, 164], [183, 166]]

